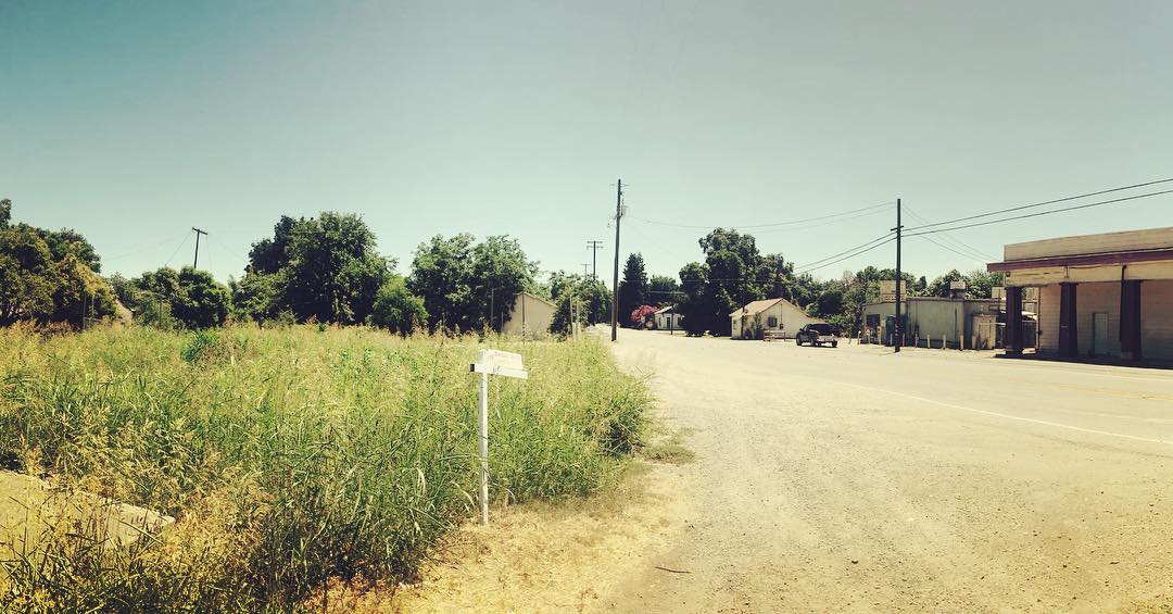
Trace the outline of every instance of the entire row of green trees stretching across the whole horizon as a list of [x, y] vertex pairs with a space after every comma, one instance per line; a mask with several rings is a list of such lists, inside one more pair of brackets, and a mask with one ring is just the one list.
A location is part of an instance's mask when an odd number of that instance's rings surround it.
[[[746, 303], [785, 298], [812, 316], [855, 333], [865, 305], [879, 299], [891, 269], [867, 266], [839, 279], [795, 272], [781, 254], [761, 254], [752, 235], [718, 228], [698, 242], [704, 258], [676, 277], [649, 277], [642, 254], [631, 254], [617, 291], [626, 325], [644, 323], [653, 308], [672, 305], [690, 335], [728, 335], [728, 313]], [[470, 234], [420, 243], [411, 274], [378, 254], [375, 235], [354, 214], [282, 216], [271, 237], [252, 243], [240, 278], [228, 284], [209, 272], [162, 266], [126, 278], [101, 277], [101, 258], [69, 229], [12, 223], [12, 202], [0, 201], [0, 325], [20, 321], [80, 328], [87, 318], [115, 317], [118, 306], [136, 322], [161, 328], [203, 329], [226, 322], [369, 324], [408, 335], [416, 330], [501, 330], [516, 296], [552, 301], [554, 332], [610, 321], [611, 292], [595, 276], [555, 271], [537, 282], [538, 263], [508, 236], [477, 241]], [[999, 274], [952, 270], [928, 282], [904, 272], [909, 296], [948, 296], [950, 283], [989, 297]], [[571, 309], [571, 304], [574, 309]], [[126, 317], [126, 315], [123, 315]]]

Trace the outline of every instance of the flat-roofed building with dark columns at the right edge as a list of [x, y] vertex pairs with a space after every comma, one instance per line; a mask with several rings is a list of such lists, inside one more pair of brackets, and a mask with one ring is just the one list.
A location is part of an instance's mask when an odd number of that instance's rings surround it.
[[1008, 355], [1030, 344], [1023, 293], [1038, 288], [1039, 355], [1173, 360], [1173, 228], [1012, 243], [1003, 261]]

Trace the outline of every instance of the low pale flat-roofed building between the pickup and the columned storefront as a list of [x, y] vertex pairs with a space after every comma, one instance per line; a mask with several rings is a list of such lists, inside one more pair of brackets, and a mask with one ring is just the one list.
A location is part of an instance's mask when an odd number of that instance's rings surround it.
[[[901, 297], [902, 345], [992, 350], [1002, 302], [994, 298]], [[895, 297], [863, 306], [865, 337], [891, 345], [896, 321]]]

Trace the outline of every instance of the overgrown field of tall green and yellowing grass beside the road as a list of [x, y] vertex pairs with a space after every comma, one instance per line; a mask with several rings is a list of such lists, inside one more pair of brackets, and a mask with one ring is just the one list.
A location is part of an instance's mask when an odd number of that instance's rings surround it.
[[[608, 485], [639, 438], [643, 383], [597, 342], [490, 345], [530, 369], [491, 383], [495, 502]], [[411, 579], [475, 515], [468, 364], [483, 346], [317, 326], [0, 330], [0, 466], [177, 519], [128, 548], [77, 524], [0, 545], [0, 609], [290, 609], [332, 578]]]

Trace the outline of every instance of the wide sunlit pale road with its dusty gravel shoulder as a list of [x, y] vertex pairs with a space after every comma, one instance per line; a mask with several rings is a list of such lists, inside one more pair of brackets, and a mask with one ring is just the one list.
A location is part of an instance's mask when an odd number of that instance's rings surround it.
[[698, 458], [650, 553], [689, 573], [644, 566], [610, 607], [1173, 607], [1171, 372], [635, 331], [615, 351]]

